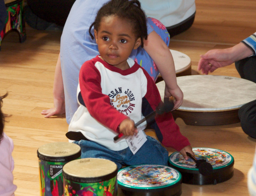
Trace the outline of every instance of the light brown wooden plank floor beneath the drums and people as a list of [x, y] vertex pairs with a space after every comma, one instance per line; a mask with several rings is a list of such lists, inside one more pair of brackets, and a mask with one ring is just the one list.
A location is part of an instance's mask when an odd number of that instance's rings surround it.
[[[193, 26], [171, 39], [169, 48], [191, 58], [192, 73], [197, 72], [199, 55], [212, 48], [237, 44], [256, 31], [255, 0], [196, 0]], [[26, 26], [27, 40], [18, 43], [18, 34], [8, 34], [0, 52], [0, 94], [3, 112], [9, 114], [5, 133], [14, 141], [14, 184], [16, 196], [38, 196], [39, 169], [37, 149], [49, 142], [67, 141], [65, 116], [45, 119], [41, 110], [53, 106], [54, 68], [59, 53], [61, 32], [37, 31]], [[214, 75], [239, 77], [234, 65], [216, 70]], [[214, 85], [214, 84], [213, 84]], [[193, 147], [211, 147], [234, 156], [234, 176], [216, 185], [182, 184], [182, 196], [246, 196], [247, 172], [252, 166], [255, 139], [243, 133], [240, 124], [189, 126], [176, 123]], [[168, 148], [169, 152], [174, 152]]]

